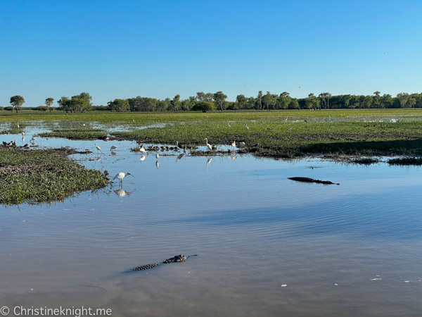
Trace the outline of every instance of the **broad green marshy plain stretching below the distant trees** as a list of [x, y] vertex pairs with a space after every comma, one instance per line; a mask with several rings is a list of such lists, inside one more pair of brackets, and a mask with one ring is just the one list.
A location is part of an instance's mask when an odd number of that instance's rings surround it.
[[[9, 113], [10, 114], [10, 113]], [[0, 116], [10, 132], [42, 125], [44, 137], [99, 139], [107, 135], [186, 147], [245, 142], [240, 153], [274, 158], [422, 154], [422, 110], [250, 111], [211, 113], [37, 113]], [[17, 128], [20, 123], [20, 129]], [[246, 125], [248, 129], [246, 129]], [[113, 129], [113, 130], [111, 130]], [[271, 130], [269, 130], [271, 129]], [[7, 132], [5, 130], [4, 132]], [[198, 154], [203, 154], [198, 151]]]

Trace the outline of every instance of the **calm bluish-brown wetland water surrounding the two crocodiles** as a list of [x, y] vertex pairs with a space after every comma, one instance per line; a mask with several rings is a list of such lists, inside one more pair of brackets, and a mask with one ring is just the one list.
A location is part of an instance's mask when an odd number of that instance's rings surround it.
[[[113, 316], [422, 315], [420, 167], [160, 156], [157, 168], [155, 152], [141, 161], [131, 142], [97, 140], [101, 155], [94, 142], [37, 142], [89, 148], [75, 159], [135, 178], [124, 178], [126, 192], [116, 182], [116, 191], [63, 203], [0, 206], [2, 305]], [[175, 254], [198, 256], [127, 272]]]

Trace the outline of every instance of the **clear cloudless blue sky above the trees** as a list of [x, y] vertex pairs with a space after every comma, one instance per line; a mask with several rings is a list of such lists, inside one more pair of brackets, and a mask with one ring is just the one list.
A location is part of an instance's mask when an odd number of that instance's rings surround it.
[[0, 106], [219, 90], [420, 93], [422, 1], [0, 0]]

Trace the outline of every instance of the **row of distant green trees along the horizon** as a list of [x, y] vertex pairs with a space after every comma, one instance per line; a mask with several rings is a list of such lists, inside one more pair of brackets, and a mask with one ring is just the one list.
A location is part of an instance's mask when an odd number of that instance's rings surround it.
[[[63, 112], [87, 112], [91, 110], [106, 111], [212, 111], [212, 110], [288, 110], [288, 109], [367, 109], [367, 108], [422, 108], [422, 93], [408, 94], [400, 92], [396, 97], [391, 94], [374, 92], [372, 95], [340, 94], [333, 96], [322, 92], [318, 96], [309, 94], [307, 98], [293, 98], [288, 92], [281, 94], [263, 94], [258, 92], [256, 97], [245, 97], [238, 94], [236, 101], [227, 101], [223, 92], [205, 93], [197, 92], [196, 96], [181, 99], [177, 94], [172, 99], [155, 99], [150, 97], [134, 97], [128, 99], [115, 99], [109, 101], [107, 106], [93, 106], [92, 97], [87, 92], [82, 92], [72, 97], [61, 97], [58, 101], [58, 110]], [[39, 110], [52, 110], [54, 99], [47, 98], [46, 106], [39, 106]], [[18, 112], [25, 99], [21, 96], [11, 97], [11, 110]], [[44, 107], [44, 108], [40, 108]], [[46, 107], [46, 108], [45, 108]]]

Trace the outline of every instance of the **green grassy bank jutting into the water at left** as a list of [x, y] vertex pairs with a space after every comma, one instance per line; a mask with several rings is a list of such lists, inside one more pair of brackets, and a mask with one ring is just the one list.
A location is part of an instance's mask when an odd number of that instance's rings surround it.
[[99, 170], [70, 161], [72, 149], [23, 150], [0, 147], [0, 204], [63, 200], [108, 185]]

